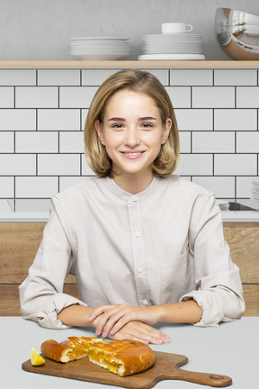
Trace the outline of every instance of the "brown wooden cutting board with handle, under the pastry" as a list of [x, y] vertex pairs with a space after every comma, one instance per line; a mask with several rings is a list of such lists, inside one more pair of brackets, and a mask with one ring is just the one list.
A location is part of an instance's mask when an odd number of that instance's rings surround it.
[[114, 375], [103, 367], [96, 366], [89, 362], [88, 358], [62, 364], [50, 360], [42, 355], [46, 363], [41, 366], [32, 366], [31, 360], [22, 363], [22, 369], [31, 373], [43, 375], [55, 375], [76, 380], [90, 381], [99, 384], [111, 384], [125, 388], [148, 389], [157, 382], [165, 379], [176, 379], [189, 381], [196, 384], [207, 384], [210, 386], [228, 386], [232, 384], [232, 379], [226, 375], [215, 375], [206, 373], [195, 373], [179, 369], [180, 366], [188, 363], [188, 358], [164, 352], [155, 352], [155, 365], [143, 373], [121, 377]]

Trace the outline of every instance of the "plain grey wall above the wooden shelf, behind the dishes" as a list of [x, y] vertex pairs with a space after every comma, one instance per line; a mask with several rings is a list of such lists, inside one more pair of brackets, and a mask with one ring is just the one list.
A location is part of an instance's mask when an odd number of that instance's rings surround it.
[[0, 0], [0, 60], [72, 59], [69, 40], [81, 36], [128, 37], [138, 59], [141, 37], [170, 22], [193, 25], [206, 59], [228, 59], [214, 32], [218, 7], [259, 15], [258, 0]]

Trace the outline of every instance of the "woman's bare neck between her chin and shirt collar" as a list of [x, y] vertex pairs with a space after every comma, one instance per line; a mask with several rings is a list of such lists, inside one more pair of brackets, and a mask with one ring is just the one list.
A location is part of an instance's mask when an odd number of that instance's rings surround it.
[[143, 192], [153, 180], [153, 173], [150, 175], [114, 175], [114, 181], [126, 192], [136, 195]]

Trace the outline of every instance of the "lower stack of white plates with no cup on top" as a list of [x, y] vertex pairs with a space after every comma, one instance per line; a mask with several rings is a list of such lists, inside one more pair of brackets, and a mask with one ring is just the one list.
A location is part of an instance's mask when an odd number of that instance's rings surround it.
[[129, 56], [128, 38], [83, 37], [70, 40], [71, 55], [82, 60], [118, 60]]

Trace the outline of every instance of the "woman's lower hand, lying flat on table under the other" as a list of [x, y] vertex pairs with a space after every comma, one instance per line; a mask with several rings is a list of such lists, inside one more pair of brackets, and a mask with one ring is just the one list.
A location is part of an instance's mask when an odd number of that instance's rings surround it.
[[170, 343], [170, 338], [163, 332], [154, 329], [153, 327], [142, 323], [141, 321], [129, 321], [115, 335], [109, 335], [110, 339], [122, 340], [138, 340], [148, 344]]

